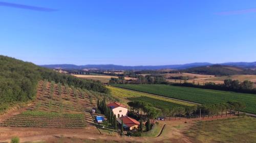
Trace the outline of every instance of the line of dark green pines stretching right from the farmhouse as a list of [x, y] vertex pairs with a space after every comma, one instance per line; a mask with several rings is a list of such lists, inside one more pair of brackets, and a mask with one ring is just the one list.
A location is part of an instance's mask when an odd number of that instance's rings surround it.
[[200, 116], [200, 110], [201, 110], [201, 117], [205, 118], [205, 116], [208, 116], [208, 118], [211, 116], [212, 118], [216, 115], [223, 116], [224, 114], [228, 116], [228, 113], [231, 115], [233, 114], [240, 114], [240, 110], [244, 109], [246, 106], [242, 102], [237, 101], [229, 101], [227, 103], [220, 103], [220, 104], [202, 104], [199, 106], [186, 106], [186, 107], [173, 107], [173, 108], [162, 108], [157, 109], [152, 104], [146, 103], [144, 101], [131, 101], [127, 103], [130, 106], [130, 111], [138, 115], [137, 119], [152, 119], [152, 122], [159, 117], [164, 116], [174, 117], [176, 120], [176, 117], [178, 116], [179, 119], [181, 117], [187, 117], [187, 118], [197, 118]]

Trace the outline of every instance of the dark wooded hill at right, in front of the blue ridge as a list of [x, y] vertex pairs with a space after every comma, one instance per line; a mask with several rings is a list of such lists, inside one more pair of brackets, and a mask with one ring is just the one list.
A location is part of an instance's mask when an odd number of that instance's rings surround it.
[[223, 66], [223, 65], [212, 65], [194, 67], [181, 72], [194, 73], [194, 74], [209, 74], [209, 75], [236, 75], [236, 74], [256, 74], [255, 70], [245, 69], [236, 66]]

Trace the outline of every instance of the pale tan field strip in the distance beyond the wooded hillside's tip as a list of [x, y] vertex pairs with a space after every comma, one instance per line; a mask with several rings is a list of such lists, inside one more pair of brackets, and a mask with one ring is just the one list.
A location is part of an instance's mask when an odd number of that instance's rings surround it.
[[[84, 79], [91, 79], [91, 80], [99, 80], [102, 83], [109, 83], [110, 78], [118, 78], [118, 76], [110, 76], [110, 75], [80, 75], [80, 74], [73, 74], [73, 76], [84, 78]], [[135, 80], [136, 78], [132, 77], [124, 77], [125, 80]]]

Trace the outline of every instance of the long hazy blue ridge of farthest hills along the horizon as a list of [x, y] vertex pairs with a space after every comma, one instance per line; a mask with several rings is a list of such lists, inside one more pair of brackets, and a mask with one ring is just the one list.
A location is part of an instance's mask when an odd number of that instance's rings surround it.
[[[71, 64], [62, 64], [62, 65], [41, 65], [41, 67], [56, 69], [99, 69], [99, 70], [159, 70], [159, 69], [176, 69], [183, 70], [194, 67], [202, 67], [202, 66], [211, 66], [215, 64], [211, 63], [190, 63], [190, 64], [182, 64], [182, 65], [163, 65], [163, 66], [120, 66], [120, 65], [71, 65]], [[218, 65], [225, 66], [237, 66], [241, 68], [256, 68], [256, 62], [246, 63], [222, 63]]]

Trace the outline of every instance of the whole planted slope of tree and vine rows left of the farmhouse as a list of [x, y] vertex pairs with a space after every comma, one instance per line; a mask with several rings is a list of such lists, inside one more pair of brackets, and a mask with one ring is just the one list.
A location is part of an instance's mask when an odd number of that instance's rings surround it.
[[40, 81], [32, 105], [0, 126], [84, 128], [87, 123], [93, 123], [90, 111], [96, 107], [98, 96], [97, 92]]

